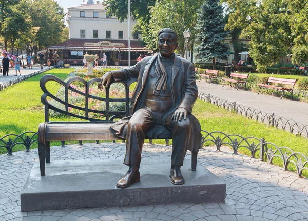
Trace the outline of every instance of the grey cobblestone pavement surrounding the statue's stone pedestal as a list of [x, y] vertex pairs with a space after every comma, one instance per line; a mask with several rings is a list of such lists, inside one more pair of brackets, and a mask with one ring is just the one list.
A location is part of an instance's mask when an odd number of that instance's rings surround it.
[[[171, 147], [144, 145], [143, 157], [170, 156]], [[308, 220], [308, 180], [258, 159], [200, 150], [198, 161], [227, 184], [225, 203], [20, 211], [20, 192], [37, 159], [37, 149], [0, 155], [0, 221], [3, 220]], [[189, 151], [188, 151], [189, 152]], [[51, 147], [51, 160], [119, 159], [125, 144]], [[187, 156], [190, 157], [190, 156]], [[198, 168], [197, 168], [198, 169]]]

